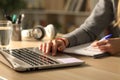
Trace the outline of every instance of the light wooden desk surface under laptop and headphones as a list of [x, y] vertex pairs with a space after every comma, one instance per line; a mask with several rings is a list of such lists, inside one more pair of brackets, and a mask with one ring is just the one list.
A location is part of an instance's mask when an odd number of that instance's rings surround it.
[[[11, 47], [38, 46], [37, 41], [14, 41]], [[85, 60], [86, 64], [76, 67], [16, 72], [0, 63], [0, 76], [8, 80], [120, 80], [120, 56], [103, 59], [72, 55]]]

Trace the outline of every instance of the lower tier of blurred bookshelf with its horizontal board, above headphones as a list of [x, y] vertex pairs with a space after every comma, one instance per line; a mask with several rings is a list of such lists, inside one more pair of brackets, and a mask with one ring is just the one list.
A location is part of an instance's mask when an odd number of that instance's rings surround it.
[[[22, 10], [26, 15], [24, 28], [35, 25], [53, 24], [61, 33], [68, 33], [81, 25], [90, 12], [73, 12], [62, 10]], [[70, 29], [70, 30], [68, 30]]]

